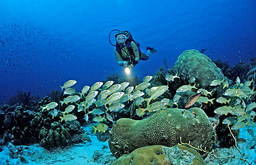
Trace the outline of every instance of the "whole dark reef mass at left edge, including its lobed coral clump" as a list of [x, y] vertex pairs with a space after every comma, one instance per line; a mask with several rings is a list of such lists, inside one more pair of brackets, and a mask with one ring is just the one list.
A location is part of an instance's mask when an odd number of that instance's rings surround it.
[[60, 117], [54, 117], [53, 110], [39, 108], [49, 102], [51, 99], [45, 97], [37, 106], [31, 106], [31, 104], [30, 106], [24, 104], [2, 106], [1, 135], [3, 135], [4, 144], [11, 142], [14, 145], [29, 145], [39, 142], [45, 148], [53, 148], [76, 142], [77, 140], [72, 139], [72, 136], [82, 134], [80, 123], [78, 121], [60, 123]]

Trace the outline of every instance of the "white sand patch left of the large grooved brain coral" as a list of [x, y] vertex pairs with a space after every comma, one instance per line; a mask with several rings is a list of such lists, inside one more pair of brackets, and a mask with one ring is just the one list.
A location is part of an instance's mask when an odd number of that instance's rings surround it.
[[[86, 127], [85, 130], [90, 129]], [[89, 135], [91, 138], [91, 143], [87, 142], [86, 144], [75, 144], [75, 146], [67, 149], [56, 149], [55, 151], [48, 151], [39, 144], [34, 144], [32, 146], [23, 146], [23, 157], [26, 159], [28, 164], [81, 164], [81, 165], [96, 165], [103, 164], [106, 160], [112, 159], [111, 152], [108, 147], [107, 142], [98, 141], [97, 137], [92, 134]], [[107, 146], [107, 148], [105, 148]], [[13, 148], [12, 144], [5, 146], [4, 150], [0, 153], [0, 165], [1, 164], [24, 164], [21, 163], [20, 158], [12, 159], [9, 156], [9, 148]], [[104, 148], [103, 148], [104, 147]], [[99, 157], [94, 160], [93, 153], [95, 151], [100, 151]], [[102, 162], [102, 163], [101, 163]], [[110, 163], [107, 163], [110, 164]]]

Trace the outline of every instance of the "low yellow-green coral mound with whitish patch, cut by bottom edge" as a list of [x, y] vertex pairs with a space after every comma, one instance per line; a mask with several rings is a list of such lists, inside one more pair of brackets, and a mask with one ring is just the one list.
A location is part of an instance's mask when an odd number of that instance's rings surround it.
[[145, 146], [122, 155], [112, 165], [144, 164], [194, 164], [204, 165], [203, 158], [194, 149], [186, 146], [166, 147], [161, 145]]

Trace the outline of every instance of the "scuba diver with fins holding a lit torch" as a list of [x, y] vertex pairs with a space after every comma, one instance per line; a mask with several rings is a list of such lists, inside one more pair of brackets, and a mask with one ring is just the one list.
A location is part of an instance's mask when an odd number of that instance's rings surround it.
[[[112, 30], [111, 32], [113, 32]], [[110, 35], [109, 33], [109, 42], [110, 41]], [[118, 64], [120, 66], [125, 66], [129, 68], [134, 68], [136, 64], [138, 64], [138, 61], [140, 60], [147, 60], [149, 59], [149, 55], [151, 53], [156, 52], [154, 48], [151, 48], [147, 46], [147, 51], [143, 52], [143, 50], [140, 50], [140, 43], [135, 41], [133, 37], [131, 36], [131, 33], [128, 30], [118, 30], [118, 32], [115, 35], [116, 39], [116, 45], [114, 48], [114, 53], [116, 56], [116, 60], [118, 61]]]

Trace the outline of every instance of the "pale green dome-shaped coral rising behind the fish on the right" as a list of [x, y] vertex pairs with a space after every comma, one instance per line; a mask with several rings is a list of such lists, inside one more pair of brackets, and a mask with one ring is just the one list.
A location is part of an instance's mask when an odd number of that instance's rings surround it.
[[224, 75], [212, 59], [203, 55], [198, 50], [186, 50], [177, 59], [174, 70], [179, 73], [181, 79], [196, 78], [196, 84], [200, 88], [207, 87], [214, 79], [223, 79]]

